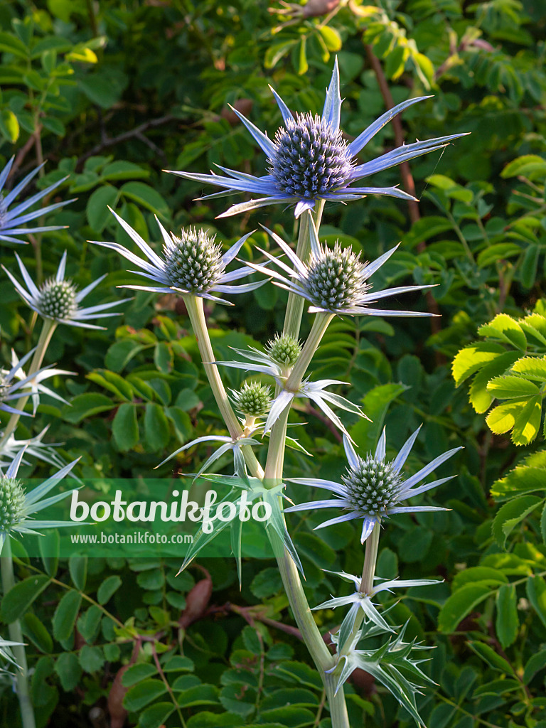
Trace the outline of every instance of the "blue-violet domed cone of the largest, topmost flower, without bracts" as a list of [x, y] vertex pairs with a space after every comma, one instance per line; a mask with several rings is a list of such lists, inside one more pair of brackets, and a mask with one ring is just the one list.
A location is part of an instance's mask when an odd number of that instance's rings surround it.
[[355, 162], [339, 129], [327, 119], [296, 114], [274, 139], [269, 172], [280, 191], [316, 199], [349, 181]]

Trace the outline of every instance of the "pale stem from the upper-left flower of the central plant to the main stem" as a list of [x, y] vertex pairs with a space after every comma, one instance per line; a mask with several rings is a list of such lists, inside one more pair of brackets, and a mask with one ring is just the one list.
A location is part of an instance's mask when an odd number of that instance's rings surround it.
[[[223, 386], [220, 374], [218, 373], [213, 346], [210, 343], [207, 322], [205, 320], [203, 299], [198, 296], [183, 296], [183, 299], [186, 304], [186, 309], [188, 309], [189, 320], [191, 321], [191, 325], [194, 329], [197, 346], [199, 347], [199, 353], [203, 360], [203, 366], [205, 367], [205, 373], [210, 384], [210, 389], [213, 390], [216, 404], [218, 405], [218, 409], [223, 417], [223, 421], [226, 423], [230, 437], [233, 440], [238, 440], [242, 437], [243, 431], [241, 424], [233, 411], [232, 404], [229, 401], [229, 397], [225, 387]], [[261, 469], [261, 465], [258, 463], [252, 448], [245, 445], [242, 446], [241, 451], [250, 470], [256, 473], [257, 478], [263, 478], [264, 472]], [[260, 472], [261, 475], [258, 475]]]

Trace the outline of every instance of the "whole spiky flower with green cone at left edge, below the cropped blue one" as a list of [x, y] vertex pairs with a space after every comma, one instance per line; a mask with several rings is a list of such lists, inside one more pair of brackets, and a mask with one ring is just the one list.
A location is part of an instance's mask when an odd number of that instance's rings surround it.
[[28, 270], [25, 268], [23, 261], [15, 253], [17, 263], [19, 264], [20, 272], [23, 275], [23, 280], [26, 284], [26, 288], [20, 284], [20, 282], [12, 275], [9, 270], [2, 266], [4, 271], [8, 274], [9, 280], [15, 285], [17, 293], [23, 298], [28, 306], [33, 311], [36, 311], [44, 319], [55, 321], [55, 323], [66, 323], [70, 326], [77, 326], [79, 328], [103, 328], [102, 326], [96, 326], [91, 323], [87, 323], [90, 319], [106, 318], [109, 316], [120, 316], [120, 313], [103, 313], [106, 309], [111, 309], [112, 306], [122, 304], [125, 301], [130, 301], [130, 298], [124, 298], [123, 301], [113, 301], [109, 304], [98, 304], [98, 306], [89, 306], [87, 308], [81, 308], [80, 303], [90, 293], [93, 288], [96, 288], [98, 284], [103, 281], [108, 275], [105, 273], [94, 280], [90, 285], [87, 285], [82, 290], [78, 290], [73, 282], [65, 280], [66, 271], [66, 250], [63, 253], [63, 257], [60, 259], [60, 264], [55, 277], [49, 278], [44, 281], [39, 287], [33, 282]]

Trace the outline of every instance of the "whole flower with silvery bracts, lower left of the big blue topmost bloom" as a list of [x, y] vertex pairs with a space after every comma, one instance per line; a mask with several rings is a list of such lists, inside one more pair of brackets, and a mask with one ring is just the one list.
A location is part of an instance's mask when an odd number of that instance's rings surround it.
[[202, 230], [188, 228], [182, 230], [180, 236], [168, 233], [156, 217], [159, 230], [163, 238], [163, 256], [158, 256], [146, 240], [132, 229], [132, 227], [111, 210], [116, 220], [129, 237], [142, 250], [147, 260], [135, 256], [130, 250], [116, 242], [100, 242], [92, 240], [95, 245], [116, 250], [141, 271], [130, 271], [151, 280], [152, 285], [122, 285], [119, 288], [132, 288], [133, 290], [149, 290], [153, 293], [179, 293], [186, 296], [208, 298], [216, 303], [231, 305], [223, 298], [213, 296], [213, 293], [248, 293], [264, 285], [265, 280], [243, 285], [231, 285], [232, 281], [245, 278], [253, 273], [253, 269], [243, 266], [231, 273], [226, 273], [226, 267], [239, 253], [242, 245], [248, 240], [252, 232], [243, 235], [232, 245], [226, 253], [221, 252], [221, 246], [215, 242], [215, 237], [209, 237]]

